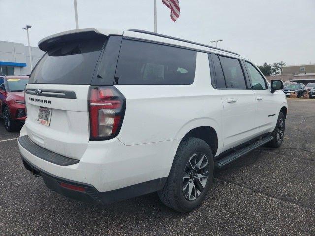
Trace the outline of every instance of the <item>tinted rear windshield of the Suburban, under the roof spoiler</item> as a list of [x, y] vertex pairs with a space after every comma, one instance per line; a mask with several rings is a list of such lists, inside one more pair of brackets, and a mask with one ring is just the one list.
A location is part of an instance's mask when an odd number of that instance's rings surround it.
[[54, 46], [38, 62], [29, 83], [90, 84], [106, 38], [98, 36]]

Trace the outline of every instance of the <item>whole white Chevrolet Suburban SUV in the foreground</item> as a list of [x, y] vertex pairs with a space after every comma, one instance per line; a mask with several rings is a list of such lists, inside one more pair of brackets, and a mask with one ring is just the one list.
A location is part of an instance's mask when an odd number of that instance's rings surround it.
[[52, 190], [110, 203], [158, 191], [197, 207], [214, 167], [284, 138], [281, 81], [238, 54], [141, 30], [78, 29], [39, 42], [25, 89], [23, 164]]

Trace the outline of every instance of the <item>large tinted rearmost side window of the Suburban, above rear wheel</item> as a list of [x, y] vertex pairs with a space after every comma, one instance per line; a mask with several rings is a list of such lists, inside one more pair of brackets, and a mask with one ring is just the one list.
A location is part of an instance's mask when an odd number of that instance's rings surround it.
[[196, 52], [154, 43], [123, 40], [115, 83], [119, 85], [189, 85]]

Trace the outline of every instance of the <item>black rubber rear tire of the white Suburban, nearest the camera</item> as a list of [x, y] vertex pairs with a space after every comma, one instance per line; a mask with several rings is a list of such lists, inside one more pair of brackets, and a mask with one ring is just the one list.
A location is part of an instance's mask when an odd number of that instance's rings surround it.
[[[189, 179], [189, 177], [187, 177], [187, 172], [189, 171], [188, 165], [191, 164], [189, 161], [193, 162], [194, 155], [196, 158], [196, 161], [194, 162], [196, 171], [191, 170], [191, 179]], [[204, 158], [204, 156], [206, 156], [206, 158]], [[207, 170], [207, 178], [204, 177], [201, 180], [200, 174], [205, 174]], [[197, 180], [194, 180], [194, 177], [191, 176], [195, 176]], [[185, 140], [181, 141], [177, 149], [171, 171], [167, 178], [167, 182], [165, 183], [164, 188], [158, 191], [158, 196], [166, 206], [176, 211], [183, 213], [192, 211], [193, 209], [197, 208], [205, 198], [212, 183], [212, 176], [213, 155], [209, 145], [205, 141], [198, 138], [186, 138]], [[185, 190], [184, 185], [189, 189]], [[190, 188], [192, 185], [194, 186], [194, 194], [193, 191], [189, 191], [190, 189], [193, 189], [193, 187]], [[199, 190], [202, 188], [203, 190], [200, 192]], [[187, 191], [187, 196], [185, 196], [185, 192]], [[193, 197], [195, 197], [194, 200], [188, 199]]]

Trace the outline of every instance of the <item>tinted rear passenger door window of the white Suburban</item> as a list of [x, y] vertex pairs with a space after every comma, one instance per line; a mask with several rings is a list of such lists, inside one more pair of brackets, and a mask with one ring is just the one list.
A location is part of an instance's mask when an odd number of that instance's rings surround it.
[[245, 79], [239, 60], [222, 56], [219, 57], [227, 88], [246, 89]]

